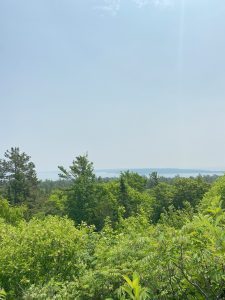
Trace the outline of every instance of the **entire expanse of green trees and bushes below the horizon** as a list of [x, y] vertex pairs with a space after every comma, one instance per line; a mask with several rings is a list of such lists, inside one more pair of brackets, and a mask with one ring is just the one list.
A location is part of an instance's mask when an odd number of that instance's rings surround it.
[[58, 168], [0, 160], [0, 299], [225, 299], [224, 176]]

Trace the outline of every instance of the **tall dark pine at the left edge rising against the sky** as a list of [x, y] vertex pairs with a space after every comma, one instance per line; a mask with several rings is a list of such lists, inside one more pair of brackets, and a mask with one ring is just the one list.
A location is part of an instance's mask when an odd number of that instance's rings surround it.
[[0, 160], [0, 186], [2, 194], [13, 204], [30, 203], [37, 191], [35, 165], [30, 156], [11, 148], [5, 152], [5, 159]]

